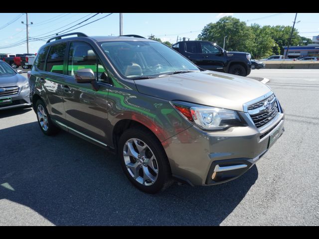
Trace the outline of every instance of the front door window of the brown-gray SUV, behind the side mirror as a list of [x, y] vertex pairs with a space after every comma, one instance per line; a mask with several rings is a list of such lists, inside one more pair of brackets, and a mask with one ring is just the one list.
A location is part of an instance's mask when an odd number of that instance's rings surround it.
[[92, 47], [85, 42], [72, 42], [69, 51], [68, 75], [74, 76], [80, 69], [92, 69], [99, 79], [106, 72]]

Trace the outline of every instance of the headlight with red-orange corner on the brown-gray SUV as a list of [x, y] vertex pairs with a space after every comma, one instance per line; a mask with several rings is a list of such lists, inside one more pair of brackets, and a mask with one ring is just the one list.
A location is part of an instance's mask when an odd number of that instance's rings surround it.
[[236, 111], [184, 102], [171, 102], [171, 105], [186, 119], [202, 129], [218, 130], [245, 125]]

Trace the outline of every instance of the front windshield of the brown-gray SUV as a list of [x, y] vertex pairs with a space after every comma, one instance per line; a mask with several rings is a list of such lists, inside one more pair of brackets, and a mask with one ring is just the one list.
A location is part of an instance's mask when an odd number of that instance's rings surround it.
[[159, 42], [108, 41], [101, 46], [117, 71], [127, 78], [199, 71], [193, 63]]

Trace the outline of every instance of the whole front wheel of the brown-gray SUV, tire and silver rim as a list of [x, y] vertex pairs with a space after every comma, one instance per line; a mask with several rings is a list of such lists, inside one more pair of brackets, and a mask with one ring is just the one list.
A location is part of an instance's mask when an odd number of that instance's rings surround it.
[[118, 145], [121, 166], [135, 187], [155, 194], [171, 184], [166, 153], [151, 131], [129, 128], [121, 135]]

